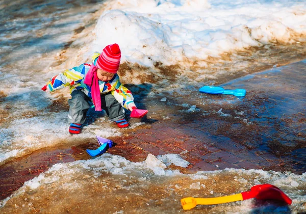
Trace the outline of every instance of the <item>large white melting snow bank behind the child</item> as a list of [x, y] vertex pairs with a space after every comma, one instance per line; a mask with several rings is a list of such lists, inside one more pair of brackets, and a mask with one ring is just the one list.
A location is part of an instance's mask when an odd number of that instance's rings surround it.
[[302, 1], [113, 1], [90, 52], [118, 43], [123, 61], [189, 67], [224, 52], [303, 40], [295, 35], [306, 33], [305, 7]]

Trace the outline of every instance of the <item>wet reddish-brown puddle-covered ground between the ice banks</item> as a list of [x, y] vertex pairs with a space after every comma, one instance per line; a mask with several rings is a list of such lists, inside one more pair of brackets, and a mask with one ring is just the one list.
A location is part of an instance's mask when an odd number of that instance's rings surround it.
[[[169, 168], [183, 173], [243, 168], [301, 174], [306, 169], [305, 65], [302, 61], [222, 85], [245, 88], [244, 98], [200, 94], [192, 86], [185, 96], [177, 90], [138, 97], [139, 108], [149, 110], [141, 119], [144, 125], [109, 138], [115, 146], [107, 152], [133, 162], [149, 153], [181, 154], [190, 165]], [[163, 97], [167, 101], [161, 102]], [[134, 122], [139, 119], [130, 119]], [[94, 158], [85, 150], [98, 147], [94, 139], [74, 145], [41, 149], [1, 166], [0, 199], [56, 163]]]

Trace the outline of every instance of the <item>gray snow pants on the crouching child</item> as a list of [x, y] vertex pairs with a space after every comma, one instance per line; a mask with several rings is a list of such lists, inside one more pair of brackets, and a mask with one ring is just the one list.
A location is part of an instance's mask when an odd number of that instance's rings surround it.
[[[86, 113], [90, 108], [91, 99], [82, 91], [75, 90], [71, 93], [69, 103], [68, 122], [81, 123], [86, 120]], [[115, 99], [111, 92], [101, 95], [101, 108], [106, 111], [112, 121], [121, 120], [125, 116], [124, 108]]]

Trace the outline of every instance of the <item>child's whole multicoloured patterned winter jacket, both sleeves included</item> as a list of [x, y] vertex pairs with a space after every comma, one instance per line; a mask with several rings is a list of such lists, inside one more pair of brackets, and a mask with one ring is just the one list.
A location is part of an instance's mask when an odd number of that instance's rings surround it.
[[[93, 63], [99, 57], [100, 53], [95, 52], [92, 56]], [[88, 72], [91, 64], [84, 63], [78, 67], [65, 70], [63, 73], [52, 77], [47, 83], [46, 86], [50, 92], [54, 92], [58, 89], [65, 88], [66, 86], [70, 87], [70, 94], [74, 90], [83, 91], [88, 97], [91, 98], [91, 89], [90, 86], [84, 84], [84, 78]], [[119, 80], [118, 74], [115, 74], [114, 77], [108, 81], [103, 82], [99, 81], [100, 93], [106, 94], [111, 92], [115, 99], [122, 105], [123, 108], [128, 109], [129, 104], [134, 104], [134, 97], [131, 91], [125, 88]]]

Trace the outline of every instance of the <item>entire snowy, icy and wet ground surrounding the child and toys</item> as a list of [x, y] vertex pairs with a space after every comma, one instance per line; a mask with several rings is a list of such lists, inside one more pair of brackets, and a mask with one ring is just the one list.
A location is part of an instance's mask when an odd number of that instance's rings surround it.
[[[293, 204], [248, 200], [191, 212], [305, 212], [305, 7], [0, 1], [0, 212], [183, 212], [183, 197], [260, 183], [277, 185]], [[68, 90], [40, 88], [113, 42], [122, 49], [119, 75], [149, 114], [127, 116], [131, 126], [118, 129], [90, 111], [82, 134], [70, 136]], [[247, 95], [197, 91], [220, 84]], [[95, 135], [116, 145], [90, 159]]]

